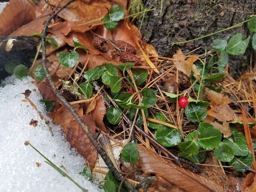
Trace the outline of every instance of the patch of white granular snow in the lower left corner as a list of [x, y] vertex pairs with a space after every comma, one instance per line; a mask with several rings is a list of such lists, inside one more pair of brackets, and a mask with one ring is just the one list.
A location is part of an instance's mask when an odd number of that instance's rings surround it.
[[[68, 174], [89, 192], [100, 191], [92, 182], [87, 181], [79, 172], [85, 160], [71, 149], [62, 135], [61, 127], [53, 126], [53, 134], [40, 119], [29, 102], [22, 101], [25, 90], [31, 90], [30, 99], [46, 117], [44, 106], [39, 101], [41, 94], [32, 78], [18, 80], [7, 78], [4, 88], [0, 88], [0, 191], [1, 192], [79, 192], [81, 191], [68, 178], [62, 177], [43, 157], [30, 146], [28, 140], [44, 156], [58, 167], [65, 167]], [[30, 125], [31, 119], [38, 125]], [[51, 124], [52, 125], [52, 124]], [[36, 163], [41, 163], [37, 166]], [[64, 169], [62, 169], [64, 171]]]

